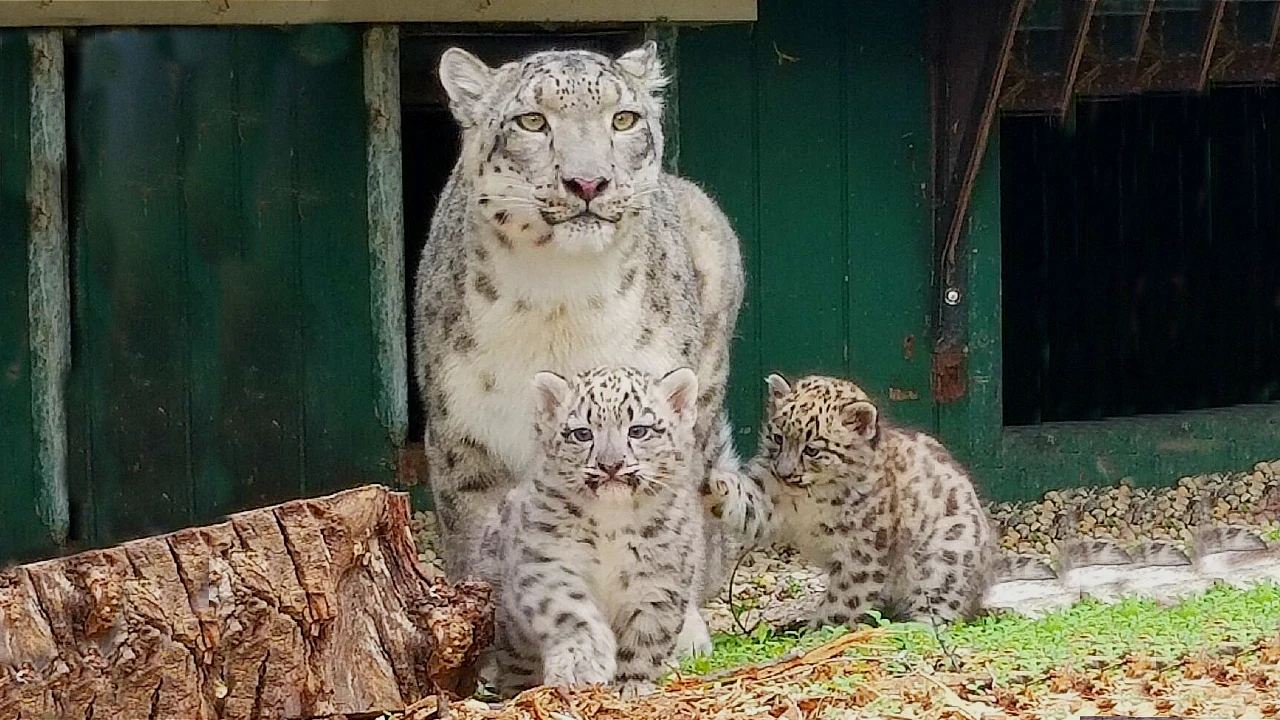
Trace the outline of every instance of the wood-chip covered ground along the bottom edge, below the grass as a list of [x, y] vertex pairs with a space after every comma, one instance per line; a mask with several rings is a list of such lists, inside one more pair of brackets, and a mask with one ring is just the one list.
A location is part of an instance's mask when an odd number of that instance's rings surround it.
[[850, 633], [799, 657], [717, 678], [677, 679], [622, 700], [607, 689], [535, 688], [492, 706], [436, 698], [402, 720], [1057, 720], [1096, 715], [1280, 717], [1280, 638], [1175, 662], [1140, 656], [1083, 671], [993, 683], [982, 673], [893, 671], [884, 630]]

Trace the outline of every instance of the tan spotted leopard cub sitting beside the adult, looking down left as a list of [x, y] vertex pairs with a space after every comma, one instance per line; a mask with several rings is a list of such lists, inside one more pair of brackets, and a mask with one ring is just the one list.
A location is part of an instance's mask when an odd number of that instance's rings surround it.
[[768, 421], [746, 477], [710, 488], [753, 539], [827, 570], [815, 625], [869, 610], [922, 621], [973, 616], [997, 555], [965, 469], [932, 437], [886, 423], [856, 384], [769, 375]]

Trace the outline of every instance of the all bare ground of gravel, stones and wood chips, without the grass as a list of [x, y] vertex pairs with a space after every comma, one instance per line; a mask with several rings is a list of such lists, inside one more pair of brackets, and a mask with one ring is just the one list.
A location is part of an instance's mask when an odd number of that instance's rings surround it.
[[[1034, 553], [1059, 577], [998, 584], [987, 606], [1038, 616], [1083, 597], [1115, 602], [1139, 596], [1174, 602], [1216, 582], [1244, 587], [1280, 582], [1280, 461], [1242, 473], [1183, 478], [1165, 488], [1112, 487], [1047, 493], [991, 506], [1006, 551]], [[1124, 547], [1166, 542], [1185, 562], [1087, 566], [1056, 562], [1062, 523], [1069, 532]], [[436, 562], [431, 518], [417, 518], [422, 560]], [[1243, 547], [1197, 552], [1192, 530], [1204, 524], [1251, 530]], [[823, 574], [786, 550], [748, 553], [733, 585], [704, 610], [713, 632], [736, 633], [759, 621], [787, 625], [806, 618], [826, 589]], [[1280, 629], [1277, 629], [1280, 630]], [[940, 655], [904, 669], [884, 628], [867, 628], [781, 661], [708, 678], [677, 678], [655, 694], [622, 700], [607, 689], [535, 688], [503, 705], [476, 700], [419, 703], [403, 720], [1061, 720], [1088, 716], [1280, 717], [1280, 634], [1248, 647], [1224, 646], [1179, 659], [1129, 655], [1075, 670], [996, 680]]]

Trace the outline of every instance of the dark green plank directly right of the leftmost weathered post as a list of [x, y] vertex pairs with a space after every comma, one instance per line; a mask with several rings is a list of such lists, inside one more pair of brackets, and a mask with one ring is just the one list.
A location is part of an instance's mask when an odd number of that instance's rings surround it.
[[73, 182], [87, 296], [77, 345], [91, 365], [95, 538], [114, 542], [192, 519], [180, 67], [157, 32], [78, 42]]

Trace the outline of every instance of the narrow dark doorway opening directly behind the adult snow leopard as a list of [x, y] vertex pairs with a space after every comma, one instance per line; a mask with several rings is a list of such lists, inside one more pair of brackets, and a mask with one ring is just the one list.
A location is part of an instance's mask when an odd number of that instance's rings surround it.
[[421, 389], [413, 372], [413, 281], [435, 201], [453, 170], [461, 137], [436, 77], [440, 54], [456, 45], [476, 54], [490, 67], [550, 49], [585, 49], [617, 55], [640, 45], [644, 31], [623, 27], [564, 32], [522, 29], [442, 33], [430, 28], [406, 27], [402, 32], [401, 142], [404, 152], [404, 307], [410, 338], [408, 441], [421, 442], [425, 424]]

